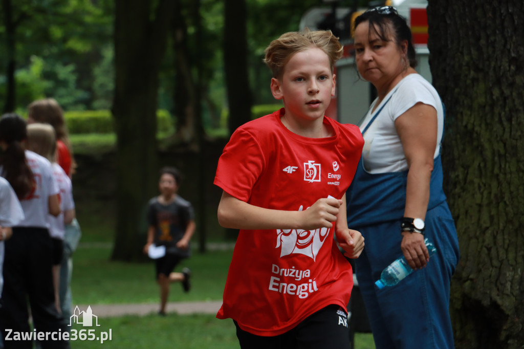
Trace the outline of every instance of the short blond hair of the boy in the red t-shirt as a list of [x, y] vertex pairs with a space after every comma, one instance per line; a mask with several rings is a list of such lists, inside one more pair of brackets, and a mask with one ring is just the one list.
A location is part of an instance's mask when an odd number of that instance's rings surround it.
[[293, 54], [309, 48], [319, 48], [328, 55], [331, 72], [343, 53], [339, 38], [334, 36], [331, 30], [311, 31], [306, 27], [303, 32], [287, 32], [271, 41], [264, 51], [264, 63], [271, 69], [273, 77], [280, 79], [286, 63]]

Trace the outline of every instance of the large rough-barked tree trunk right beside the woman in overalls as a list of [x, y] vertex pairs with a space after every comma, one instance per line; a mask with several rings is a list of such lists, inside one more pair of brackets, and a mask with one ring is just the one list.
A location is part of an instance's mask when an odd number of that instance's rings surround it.
[[456, 347], [521, 348], [524, 2], [430, 1], [428, 22], [461, 248], [450, 304]]

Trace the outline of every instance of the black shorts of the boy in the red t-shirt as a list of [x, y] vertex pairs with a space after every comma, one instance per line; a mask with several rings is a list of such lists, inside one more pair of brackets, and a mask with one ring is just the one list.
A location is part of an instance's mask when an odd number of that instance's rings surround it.
[[[257, 316], [264, 316], [257, 314]], [[347, 313], [332, 304], [311, 314], [295, 328], [277, 336], [258, 336], [239, 328], [236, 321], [236, 336], [241, 348], [249, 349], [348, 349], [350, 332]]]

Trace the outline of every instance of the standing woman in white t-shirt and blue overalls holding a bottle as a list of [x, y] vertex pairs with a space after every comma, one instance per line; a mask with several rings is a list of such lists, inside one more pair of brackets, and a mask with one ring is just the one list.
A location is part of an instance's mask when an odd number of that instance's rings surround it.
[[[378, 95], [361, 125], [361, 164], [347, 192], [348, 225], [366, 239], [356, 275], [375, 345], [454, 347], [449, 299], [459, 246], [442, 190], [442, 101], [414, 70], [411, 32], [394, 7], [356, 18], [355, 58]], [[424, 237], [437, 249], [431, 260]], [[421, 270], [376, 288], [380, 272], [402, 254]]]

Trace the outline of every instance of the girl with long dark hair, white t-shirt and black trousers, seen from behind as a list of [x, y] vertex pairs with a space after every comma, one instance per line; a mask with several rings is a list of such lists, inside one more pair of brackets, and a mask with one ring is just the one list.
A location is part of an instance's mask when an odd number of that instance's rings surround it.
[[[25, 187], [24, 191], [19, 191], [21, 194], [25, 193], [20, 198], [25, 219], [13, 226], [13, 236], [5, 242], [0, 328], [11, 329], [15, 333], [31, 332], [27, 309], [29, 298], [32, 323], [36, 332], [58, 333], [67, 330], [54, 306], [52, 243], [47, 216], [60, 214], [59, 189], [53, 177], [51, 163], [32, 151], [23, 150], [26, 136], [26, 123], [19, 115], [6, 114], [0, 118], [0, 146], [4, 151], [0, 174], [3, 177], [12, 177], [17, 170], [18, 173], [27, 173], [24, 164], [28, 165], [32, 172], [29, 190]], [[24, 183], [28, 180], [29, 177], [25, 178]], [[17, 347], [30, 347], [31, 341], [4, 341], [6, 348], [15, 344]], [[42, 341], [41, 347], [68, 348], [69, 342], [49, 339]]]

